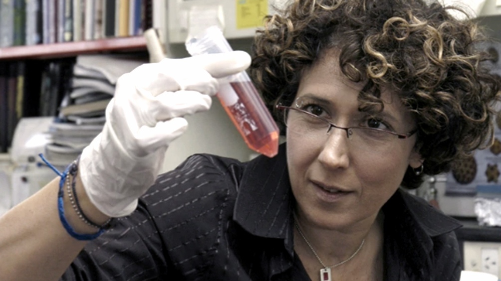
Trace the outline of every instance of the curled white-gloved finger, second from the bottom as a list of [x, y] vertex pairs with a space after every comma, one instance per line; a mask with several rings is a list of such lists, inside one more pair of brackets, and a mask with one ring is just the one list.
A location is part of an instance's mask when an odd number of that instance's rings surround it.
[[211, 104], [210, 96], [197, 91], [165, 91], [155, 96], [148, 111], [156, 123], [208, 110]]

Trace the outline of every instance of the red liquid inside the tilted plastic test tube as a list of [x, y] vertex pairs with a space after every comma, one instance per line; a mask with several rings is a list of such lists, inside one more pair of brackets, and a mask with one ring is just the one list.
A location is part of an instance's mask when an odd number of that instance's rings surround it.
[[[263, 114], [269, 114], [263, 101], [252, 100], [259, 96], [256, 88], [250, 81], [230, 82], [238, 99], [233, 104], [226, 104], [220, 98], [221, 104], [231, 121], [240, 132], [245, 143], [250, 149], [260, 152], [268, 157], [278, 153], [279, 132], [276, 124], [263, 120]], [[226, 89], [227, 90], [227, 89]], [[261, 106], [255, 106], [259, 102]]]

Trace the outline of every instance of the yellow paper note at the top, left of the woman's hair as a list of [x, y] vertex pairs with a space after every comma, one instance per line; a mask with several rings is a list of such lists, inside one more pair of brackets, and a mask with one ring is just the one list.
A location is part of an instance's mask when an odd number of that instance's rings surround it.
[[236, 28], [263, 26], [268, 14], [268, 0], [236, 0]]

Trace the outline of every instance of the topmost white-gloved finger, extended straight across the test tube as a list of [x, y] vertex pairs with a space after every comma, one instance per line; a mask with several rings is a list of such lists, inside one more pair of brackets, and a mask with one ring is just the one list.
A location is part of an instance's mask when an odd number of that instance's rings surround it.
[[225, 53], [200, 54], [189, 57], [196, 61], [214, 78], [221, 78], [241, 72], [250, 65], [250, 55], [241, 50]]

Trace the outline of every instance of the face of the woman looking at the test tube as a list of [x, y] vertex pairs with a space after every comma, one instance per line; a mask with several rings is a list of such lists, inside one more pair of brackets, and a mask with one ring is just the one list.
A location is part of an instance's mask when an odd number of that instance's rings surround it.
[[[296, 96], [306, 100], [300, 102], [301, 108], [342, 127], [377, 127], [402, 134], [415, 128], [409, 110], [389, 91], [381, 93], [383, 112], [360, 112], [357, 96], [363, 84], [342, 74], [336, 55], [328, 53], [319, 61], [302, 76]], [[421, 164], [413, 149], [415, 135], [401, 139], [388, 134], [381, 141], [370, 139], [377, 135], [354, 129], [348, 138], [340, 128], [331, 127], [327, 133], [328, 126], [321, 133], [300, 134], [292, 128], [291, 114], [287, 161], [292, 190], [300, 216], [317, 227], [342, 231], [372, 223], [398, 188], [407, 166]]]

